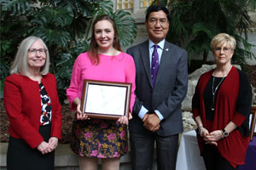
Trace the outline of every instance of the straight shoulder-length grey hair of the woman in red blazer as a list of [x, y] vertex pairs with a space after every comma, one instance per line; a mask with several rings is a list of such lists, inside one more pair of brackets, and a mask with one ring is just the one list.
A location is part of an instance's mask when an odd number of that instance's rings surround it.
[[42, 42], [44, 48], [46, 49], [46, 59], [45, 63], [42, 66], [40, 73], [41, 75], [47, 75], [49, 72], [49, 51], [44, 43], [44, 41], [39, 37], [26, 37], [22, 42], [20, 42], [20, 46], [15, 55], [15, 61], [11, 65], [9, 73], [10, 74], [21, 74], [23, 76], [28, 76], [28, 63], [27, 63], [27, 52], [28, 49], [31, 48], [32, 44], [36, 41]]

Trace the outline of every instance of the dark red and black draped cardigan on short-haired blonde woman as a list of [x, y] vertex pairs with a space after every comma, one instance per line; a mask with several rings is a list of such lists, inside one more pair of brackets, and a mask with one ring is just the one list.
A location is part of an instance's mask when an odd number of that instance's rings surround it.
[[[197, 95], [199, 98], [199, 108], [192, 108], [194, 117], [201, 116], [201, 121], [203, 126], [207, 128], [209, 133], [215, 130], [224, 129], [224, 127], [231, 121], [234, 122], [238, 127], [233, 130], [227, 138], [218, 140], [218, 151], [221, 156], [223, 156], [233, 167], [237, 165], [244, 164], [247, 146], [249, 143], [249, 138], [247, 135], [243, 135], [240, 131], [241, 126], [244, 126], [244, 122], [247, 119], [250, 111], [251, 103], [248, 101], [238, 102], [238, 98], [242, 96], [247, 96], [247, 99], [252, 96], [252, 90], [250, 90], [250, 84], [245, 78], [241, 71], [238, 71], [236, 67], [232, 67], [228, 76], [224, 79], [223, 84], [219, 88], [218, 97], [216, 100], [216, 111], [212, 123], [209, 123], [206, 118], [206, 110], [204, 104], [204, 90], [207, 86], [207, 82], [212, 77], [212, 71], [208, 71], [203, 74], [197, 85]], [[242, 77], [241, 77], [242, 75]], [[247, 94], [241, 93], [241, 83], [248, 84]], [[242, 101], [242, 99], [239, 99]], [[241, 109], [242, 108], [242, 109]], [[242, 111], [243, 110], [243, 111]], [[240, 112], [239, 112], [240, 111]], [[198, 135], [198, 144], [202, 152], [203, 140], [201, 136]]]

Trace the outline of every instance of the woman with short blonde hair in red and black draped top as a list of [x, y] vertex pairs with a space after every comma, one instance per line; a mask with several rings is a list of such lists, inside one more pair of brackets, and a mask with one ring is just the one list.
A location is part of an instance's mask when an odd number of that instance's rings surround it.
[[231, 65], [234, 37], [220, 33], [213, 37], [211, 48], [217, 67], [200, 77], [192, 111], [207, 170], [231, 170], [244, 164], [252, 88], [246, 74]]

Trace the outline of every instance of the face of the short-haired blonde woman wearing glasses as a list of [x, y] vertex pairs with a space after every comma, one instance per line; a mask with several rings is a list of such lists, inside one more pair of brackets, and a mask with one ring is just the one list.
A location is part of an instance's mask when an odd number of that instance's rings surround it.
[[234, 49], [230, 47], [230, 43], [228, 42], [218, 43], [216, 47], [213, 48], [213, 56], [218, 65], [229, 64], [233, 54]]

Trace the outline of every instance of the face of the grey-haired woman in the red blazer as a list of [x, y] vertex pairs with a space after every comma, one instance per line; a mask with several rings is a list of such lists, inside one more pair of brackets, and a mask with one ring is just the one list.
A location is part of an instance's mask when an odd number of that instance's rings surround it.
[[44, 66], [45, 59], [46, 50], [43, 43], [40, 40], [33, 42], [27, 52], [28, 71], [40, 70]]

